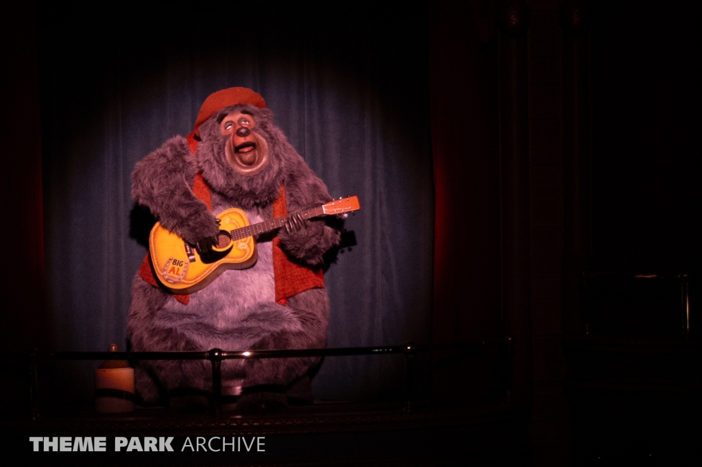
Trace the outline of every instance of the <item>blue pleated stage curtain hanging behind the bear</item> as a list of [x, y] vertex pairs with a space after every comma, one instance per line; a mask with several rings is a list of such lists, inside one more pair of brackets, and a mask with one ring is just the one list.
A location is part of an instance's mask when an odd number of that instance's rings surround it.
[[[149, 221], [130, 197], [133, 166], [189, 133], [206, 96], [229, 86], [264, 96], [332, 195], [360, 198], [326, 272], [329, 346], [428, 343], [428, 28], [424, 8], [406, 10], [38, 6], [47, 347], [124, 348]], [[88, 400], [94, 366], [62, 368], [57, 397]], [[314, 390], [378, 397], [401, 383], [402, 357], [334, 357]]]

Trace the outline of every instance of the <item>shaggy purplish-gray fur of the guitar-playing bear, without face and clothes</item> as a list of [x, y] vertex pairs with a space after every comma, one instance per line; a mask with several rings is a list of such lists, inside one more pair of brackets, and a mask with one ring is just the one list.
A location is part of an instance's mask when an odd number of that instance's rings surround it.
[[[226, 138], [219, 134], [221, 112], [246, 108], [269, 146], [270, 163], [254, 176], [236, 173], [225, 159]], [[272, 217], [272, 202], [286, 188], [289, 212], [328, 202], [326, 186], [314, 175], [272, 124], [272, 113], [250, 105], [228, 107], [200, 127], [197, 157], [185, 138], [166, 141], [135, 166], [132, 193], [164, 227], [189, 242], [214, 235], [218, 228], [204, 203], [190, 187], [197, 170], [211, 188], [213, 211], [244, 209], [251, 223]], [[213, 225], [214, 223], [214, 225]], [[298, 232], [279, 232], [293, 261], [321, 265], [322, 255], [339, 241], [339, 232], [324, 221], [307, 221]], [[317, 348], [326, 345], [329, 298], [326, 289], [290, 297], [286, 306], [274, 302], [272, 242], [260, 242], [258, 261], [246, 270], [227, 270], [183, 305], [137, 275], [132, 286], [128, 337], [133, 350], [224, 350]], [[226, 360], [223, 386], [289, 385], [317, 362], [314, 358]], [[208, 362], [143, 362], [136, 384], [145, 402], [156, 402], [168, 390], [211, 388]]]

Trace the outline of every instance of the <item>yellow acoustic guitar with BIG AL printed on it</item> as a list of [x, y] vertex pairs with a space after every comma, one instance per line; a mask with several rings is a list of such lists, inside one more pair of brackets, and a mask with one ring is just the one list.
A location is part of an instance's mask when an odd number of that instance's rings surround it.
[[[361, 209], [358, 197], [352, 196], [296, 214], [309, 219], [333, 214], [346, 216], [346, 213], [358, 209]], [[206, 253], [157, 223], [149, 236], [149, 251], [156, 277], [173, 294], [192, 294], [206, 287], [227, 269], [250, 268], [258, 259], [253, 235], [281, 228], [290, 216], [250, 225], [249, 218], [241, 209], [222, 211], [217, 216], [222, 229], [217, 238], [218, 244]]]

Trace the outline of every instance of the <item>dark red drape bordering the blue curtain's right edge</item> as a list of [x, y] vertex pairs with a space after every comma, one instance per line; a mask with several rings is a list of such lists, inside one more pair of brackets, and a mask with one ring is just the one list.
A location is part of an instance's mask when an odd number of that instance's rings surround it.
[[435, 342], [501, 330], [497, 41], [482, 13], [430, 8]]

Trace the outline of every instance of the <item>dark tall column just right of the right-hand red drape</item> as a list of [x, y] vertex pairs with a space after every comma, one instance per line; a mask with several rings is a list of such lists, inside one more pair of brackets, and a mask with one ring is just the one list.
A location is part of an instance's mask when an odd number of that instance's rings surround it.
[[532, 393], [531, 261], [529, 245], [529, 83], [526, 1], [508, 0], [498, 12], [502, 315], [515, 337], [514, 400]]

